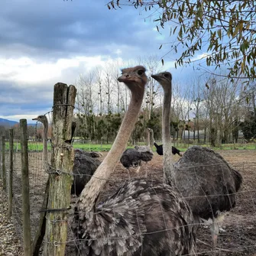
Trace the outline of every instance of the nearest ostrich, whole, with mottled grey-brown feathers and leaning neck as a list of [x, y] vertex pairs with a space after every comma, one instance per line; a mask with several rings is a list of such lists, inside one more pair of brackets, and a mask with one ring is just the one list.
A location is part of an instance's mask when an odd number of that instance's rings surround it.
[[82, 255], [184, 255], [194, 252], [193, 214], [171, 186], [132, 179], [99, 202], [140, 112], [147, 83], [144, 66], [122, 70], [119, 82], [131, 90], [131, 102], [109, 154], [79, 196], [73, 232]]

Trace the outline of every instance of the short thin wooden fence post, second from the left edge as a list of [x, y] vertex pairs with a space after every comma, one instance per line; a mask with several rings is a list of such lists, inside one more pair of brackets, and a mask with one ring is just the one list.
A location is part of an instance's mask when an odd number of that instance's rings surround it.
[[13, 129], [10, 129], [9, 140], [10, 162], [8, 174], [8, 216], [12, 213], [12, 173], [13, 173]]

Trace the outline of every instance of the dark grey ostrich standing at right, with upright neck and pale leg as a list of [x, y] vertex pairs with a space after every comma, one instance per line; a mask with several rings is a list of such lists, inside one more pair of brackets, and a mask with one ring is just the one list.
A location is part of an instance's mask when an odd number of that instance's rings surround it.
[[[172, 76], [169, 72], [152, 75], [164, 89], [164, 151], [170, 144], [170, 102]], [[165, 152], [164, 152], [165, 153]], [[170, 164], [171, 163], [167, 163]], [[169, 170], [170, 169], [170, 170]], [[193, 210], [194, 218], [212, 219], [210, 228], [213, 248], [217, 245], [219, 222], [223, 213], [235, 206], [235, 193], [242, 183], [241, 174], [229, 167], [219, 154], [209, 148], [190, 147], [173, 167], [165, 168], [169, 183], [174, 183]]]

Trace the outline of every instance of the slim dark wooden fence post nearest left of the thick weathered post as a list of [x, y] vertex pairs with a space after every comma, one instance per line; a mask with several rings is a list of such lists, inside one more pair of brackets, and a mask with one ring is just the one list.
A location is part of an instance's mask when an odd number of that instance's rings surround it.
[[22, 179], [22, 226], [24, 255], [31, 255], [31, 221], [28, 177], [28, 128], [27, 120], [20, 120], [21, 128], [21, 179]]

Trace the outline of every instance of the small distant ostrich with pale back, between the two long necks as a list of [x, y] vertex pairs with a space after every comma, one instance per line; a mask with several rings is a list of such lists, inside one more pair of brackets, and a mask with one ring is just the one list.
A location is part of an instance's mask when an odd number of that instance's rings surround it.
[[[122, 154], [120, 158], [120, 162], [128, 170], [128, 177], [130, 177], [130, 168], [138, 167], [137, 173], [141, 169], [141, 161], [147, 162], [150, 161], [153, 157], [153, 152], [147, 146], [135, 146], [134, 148], [128, 148]], [[147, 177], [147, 169], [146, 169], [146, 177]]]

